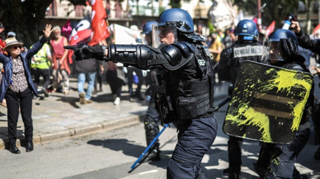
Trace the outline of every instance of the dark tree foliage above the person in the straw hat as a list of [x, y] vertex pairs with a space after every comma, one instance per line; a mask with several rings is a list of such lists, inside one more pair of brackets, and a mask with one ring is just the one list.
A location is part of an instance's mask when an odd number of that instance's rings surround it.
[[46, 7], [53, 0], [0, 0], [0, 21], [5, 31], [19, 34], [29, 47], [37, 38], [37, 25], [44, 19]]

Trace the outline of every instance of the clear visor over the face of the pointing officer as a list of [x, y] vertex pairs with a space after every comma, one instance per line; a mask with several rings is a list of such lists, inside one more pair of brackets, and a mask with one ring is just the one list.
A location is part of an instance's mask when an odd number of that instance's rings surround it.
[[176, 22], [158, 22], [152, 24], [152, 46], [177, 42]]

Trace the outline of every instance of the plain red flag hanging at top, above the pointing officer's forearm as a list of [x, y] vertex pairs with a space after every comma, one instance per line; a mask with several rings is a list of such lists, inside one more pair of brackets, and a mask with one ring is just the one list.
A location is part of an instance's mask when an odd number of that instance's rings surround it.
[[103, 8], [102, 0], [88, 0], [92, 6], [91, 12], [91, 41], [88, 45], [98, 44], [101, 40], [107, 38], [110, 34], [106, 26], [106, 12]]

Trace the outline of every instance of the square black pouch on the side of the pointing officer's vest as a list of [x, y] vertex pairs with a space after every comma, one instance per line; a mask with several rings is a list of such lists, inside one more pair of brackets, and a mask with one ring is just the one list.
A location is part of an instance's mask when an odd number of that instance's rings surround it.
[[197, 117], [196, 100], [193, 97], [178, 97], [176, 112], [180, 120], [189, 120]]

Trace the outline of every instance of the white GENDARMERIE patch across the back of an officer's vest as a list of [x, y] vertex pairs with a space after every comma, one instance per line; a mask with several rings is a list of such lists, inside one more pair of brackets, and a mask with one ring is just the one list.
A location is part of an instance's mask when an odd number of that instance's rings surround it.
[[233, 48], [233, 56], [234, 58], [246, 57], [246, 56], [261, 56], [262, 55], [262, 46], [243, 46]]

